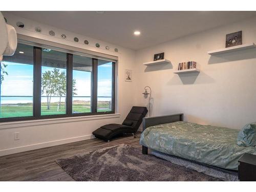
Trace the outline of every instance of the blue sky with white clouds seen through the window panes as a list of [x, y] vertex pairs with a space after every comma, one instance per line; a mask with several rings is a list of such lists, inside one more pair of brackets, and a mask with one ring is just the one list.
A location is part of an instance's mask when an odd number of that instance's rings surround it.
[[[33, 95], [33, 66], [13, 62], [6, 62], [4, 81], [1, 85], [1, 95], [32, 96]], [[53, 68], [42, 67], [42, 72]], [[76, 79], [77, 96], [91, 95], [91, 73], [73, 71]], [[98, 67], [98, 96], [111, 96], [112, 62]]]

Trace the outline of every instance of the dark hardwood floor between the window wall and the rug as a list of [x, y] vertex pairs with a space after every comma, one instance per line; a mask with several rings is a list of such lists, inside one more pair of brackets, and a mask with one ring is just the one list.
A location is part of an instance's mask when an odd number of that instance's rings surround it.
[[140, 133], [136, 135], [136, 138], [125, 136], [113, 139], [109, 143], [99, 139], [90, 139], [0, 157], [0, 181], [73, 181], [57, 165], [56, 159], [121, 143], [141, 147], [139, 145]]

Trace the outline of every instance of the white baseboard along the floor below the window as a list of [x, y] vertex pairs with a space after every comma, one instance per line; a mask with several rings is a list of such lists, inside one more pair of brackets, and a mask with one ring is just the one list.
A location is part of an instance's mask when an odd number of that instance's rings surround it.
[[31, 144], [31, 145], [26, 145], [26, 146], [7, 148], [6, 150], [0, 150], [0, 156], [10, 155], [10, 154], [15, 154], [15, 153], [20, 153], [20, 152], [27, 152], [27, 151], [31, 151], [31, 150], [37, 150], [38, 148], [45, 148], [45, 147], [49, 147], [49, 146], [61, 145], [61, 144], [72, 143], [72, 142], [76, 142], [76, 141], [93, 139], [93, 138], [95, 138], [94, 135], [84, 135], [84, 136], [79, 136], [79, 137], [72, 137], [72, 138], [67, 138], [67, 139], [48, 141], [48, 142], [44, 142], [44, 143], [36, 143], [36, 144]]

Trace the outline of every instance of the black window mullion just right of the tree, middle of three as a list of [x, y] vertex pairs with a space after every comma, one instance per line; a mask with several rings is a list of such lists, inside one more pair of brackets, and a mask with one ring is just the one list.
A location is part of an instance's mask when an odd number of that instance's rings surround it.
[[67, 53], [67, 94], [66, 94], [66, 113], [72, 115], [73, 97], [73, 54]]

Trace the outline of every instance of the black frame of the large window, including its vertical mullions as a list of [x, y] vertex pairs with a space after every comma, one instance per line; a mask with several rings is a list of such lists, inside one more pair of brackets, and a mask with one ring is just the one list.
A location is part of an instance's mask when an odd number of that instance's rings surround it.
[[[26, 44], [22, 41], [21, 44]], [[63, 118], [63, 117], [78, 117], [78, 116], [90, 116], [90, 115], [106, 115], [115, 114], [115, 92], [116, 92], [116, 61], [112, 59], [104, 59], [112, 62], [112, 110], [108, 112], [97, 112], [97, 72], [98, 72], [98, 57], [90, 55], [92, 58], [92, 75], [91, 75], [91, 112], [90, 113], [72, 113], [73, 104], [73, 53], [72, 51], [61, 50], [60, 48], [51, 48], [56, 51], [62, 51], [67, 54], [67, 69], [66, 69], [66, 114], [60, 115], [41, 115], [41, 53], [42, 47], [47, 46], [33, 46], [33, 116], [30, 117], [8, 117], [0, 118], [0, 122], [11, 122], [11, 121], [24, 121], [24, 120], [38, 120], [38, 119], [53, 119], [53, 118]], [[74, 52], [74, 54], [76, 54]], [[84, 55], [88, 56], [88, 55]], [[101, 58], [100, 58], [101, 59]]]

